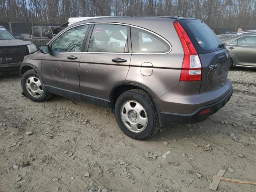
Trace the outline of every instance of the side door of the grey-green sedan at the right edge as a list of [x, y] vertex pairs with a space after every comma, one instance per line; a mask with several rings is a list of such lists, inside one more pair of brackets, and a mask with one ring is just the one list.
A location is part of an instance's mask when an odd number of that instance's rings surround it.
[[256, 66], [256, 35], [244, 35], [227, 45], [237, 65]]

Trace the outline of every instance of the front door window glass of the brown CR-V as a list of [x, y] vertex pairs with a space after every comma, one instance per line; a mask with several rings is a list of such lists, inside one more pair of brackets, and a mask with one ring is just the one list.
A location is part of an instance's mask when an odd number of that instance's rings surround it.
[[88, 25], [74, 27], [61, 34], [51, 47], [52, 52], [81, 52]]

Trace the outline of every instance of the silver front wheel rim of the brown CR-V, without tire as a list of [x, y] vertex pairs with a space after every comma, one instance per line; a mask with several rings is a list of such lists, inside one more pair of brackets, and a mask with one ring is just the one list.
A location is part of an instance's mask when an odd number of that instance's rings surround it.
[[26, 90], [35, 98], [41, 97], [44, 93], [40, 80], [35, 76], [27, 78]]

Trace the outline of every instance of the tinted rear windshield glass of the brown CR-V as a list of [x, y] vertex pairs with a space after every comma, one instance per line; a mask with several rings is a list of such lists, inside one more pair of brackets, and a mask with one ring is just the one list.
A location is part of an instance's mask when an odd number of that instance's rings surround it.
[[198, 54], [222, 49], [219, 46], [222, 42], [204, 22], [193, 19], [179, 20], [179, 22], [188, 34]]

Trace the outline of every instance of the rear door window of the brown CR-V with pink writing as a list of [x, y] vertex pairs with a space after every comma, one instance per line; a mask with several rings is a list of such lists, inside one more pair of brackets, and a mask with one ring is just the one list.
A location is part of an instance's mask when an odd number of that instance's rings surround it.
[[127, 26], [95, 24], [88, 52], [123, 53], [126, 49]]

